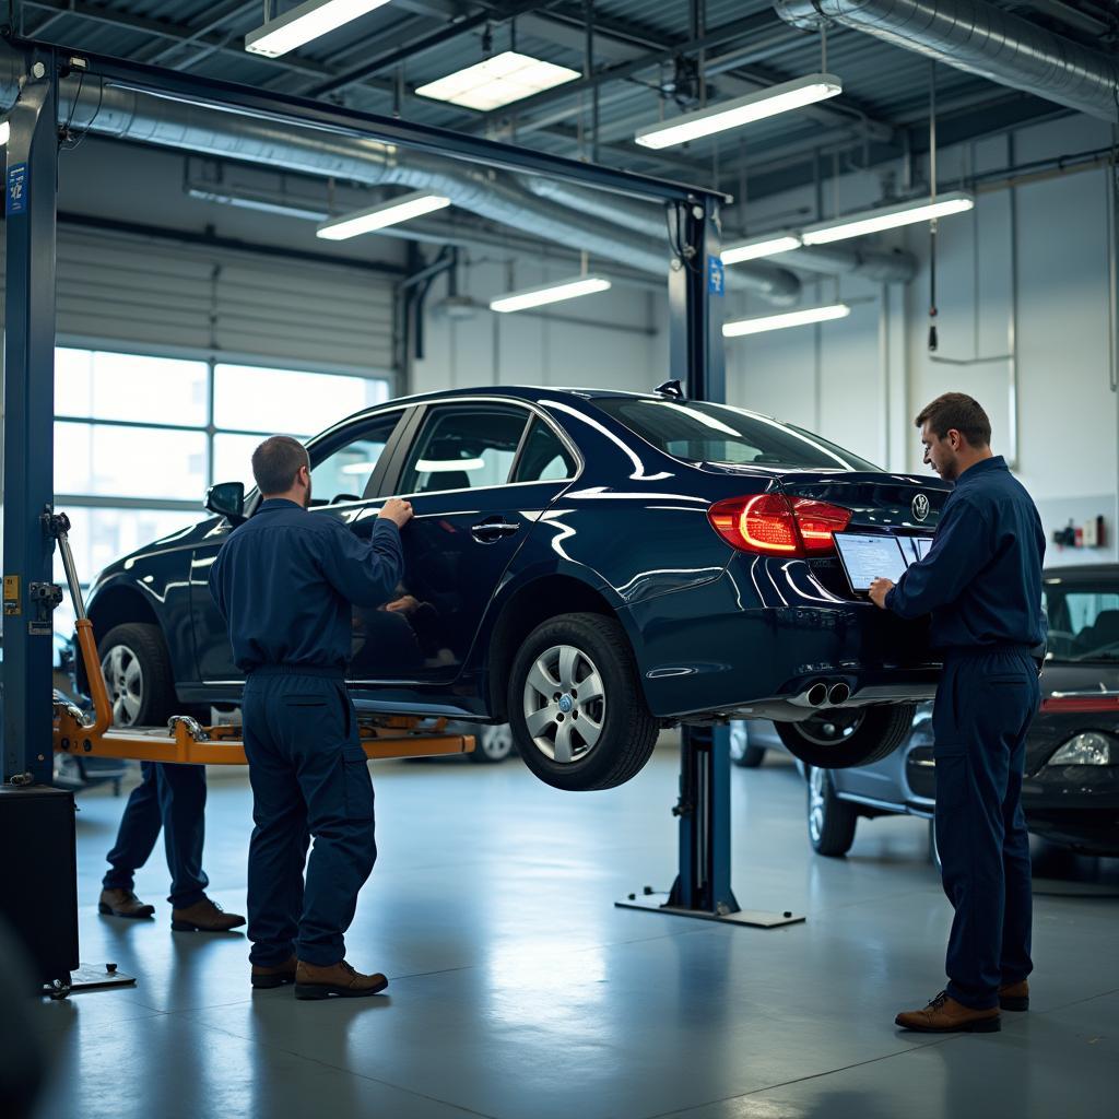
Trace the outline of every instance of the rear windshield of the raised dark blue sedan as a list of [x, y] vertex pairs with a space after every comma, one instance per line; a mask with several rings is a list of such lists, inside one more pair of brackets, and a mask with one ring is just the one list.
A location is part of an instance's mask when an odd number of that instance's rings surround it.
[[819, 435], [728, 404], [599, 397], [595, 405], [657, 450], [687, 462], [805, 470], [880, 468]]

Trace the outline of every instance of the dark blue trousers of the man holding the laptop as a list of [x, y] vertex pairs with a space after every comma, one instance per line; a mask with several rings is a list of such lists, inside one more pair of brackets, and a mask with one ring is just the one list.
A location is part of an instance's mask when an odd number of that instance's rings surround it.
[[1040, 700], [1025, 651], [946, 655], [932, 713], [937, 846], [956, 910], [946, 970], [948, 994], [974, 1009], [997, 1006], [999, 986], [1033, 969], [1022, 772]]

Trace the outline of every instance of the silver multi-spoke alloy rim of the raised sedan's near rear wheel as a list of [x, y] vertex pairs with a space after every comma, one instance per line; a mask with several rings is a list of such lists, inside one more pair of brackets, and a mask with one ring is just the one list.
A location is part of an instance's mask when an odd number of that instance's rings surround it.
[[605, 688], [594, 661], [570, 645], [545, 649], [525, 680], [528, 733], [545, 758], [582, 761], [595, 747], [606, 717]]

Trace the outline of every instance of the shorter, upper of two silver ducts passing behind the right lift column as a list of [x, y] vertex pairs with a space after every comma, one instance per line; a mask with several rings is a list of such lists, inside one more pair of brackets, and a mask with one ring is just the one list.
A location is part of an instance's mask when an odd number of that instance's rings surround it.
[[[540, 198], [547, 198], [558, 206], [589, 214], [634, 233], [655, 237], [665, 229], [665, 215], [652, 203], [632, 201], [615, 195], [600, 194], [558, 179], [533, 179], [521, 177], [525, 188]], [[862, 276], [874, 283], [909, 283], [916, 275], [916, 257], [902, 250], [848, 248], [837, 245], [798, 248], [772, 258], [772, 263], [751, 261], [749, 265], [734, 265], [727, 272], [732, 285], [743, 276], [743, 286], [756, 286], [758, 281], [780, 265], [779, 272], [800, 269], [830, 276]]]

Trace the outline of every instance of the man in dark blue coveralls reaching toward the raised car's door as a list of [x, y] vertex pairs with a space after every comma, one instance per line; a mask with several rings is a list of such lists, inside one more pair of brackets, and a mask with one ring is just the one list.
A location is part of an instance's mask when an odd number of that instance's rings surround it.
[[253, 477], [263, 500], [209, 576], [246, 676], [252, 985], [293, 982], [295, 997], [308, 999], [376, 995], [388, 980], [355, 970], [344, 942], [377, 857], [373, 782], [346, 666], [351, 604], [385, 603], [403, 577], [399, 530], [412, 506], [386, 501], [368, 540], [311, 514], [310, 461], [285, 435], [256, 448]]

